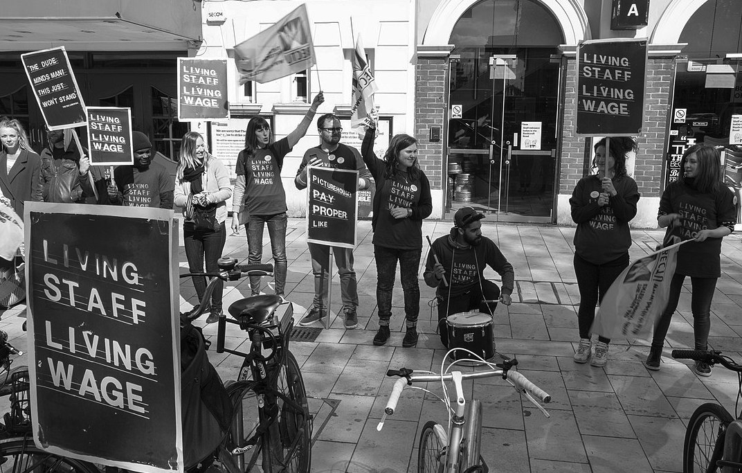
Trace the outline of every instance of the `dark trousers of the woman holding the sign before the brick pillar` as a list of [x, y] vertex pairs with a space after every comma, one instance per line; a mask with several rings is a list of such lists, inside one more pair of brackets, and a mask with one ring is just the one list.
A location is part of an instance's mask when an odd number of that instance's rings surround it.
[[[592, 264], [577, 253], [574, 254], [574, 274], [577, 276], [577, 287], [580, 289], [580, 309], [577, 310], [577, 325], [580, 327], [580, 338], [590, 338], [590, 326], [595, 319], [595, 304], [603, 301], [603, 296], [613, 281], [628, 266], [628, 252], [613, 261], [603, 264]], [[611, 339], [598, 336], [599, 342], [608, 343]]]

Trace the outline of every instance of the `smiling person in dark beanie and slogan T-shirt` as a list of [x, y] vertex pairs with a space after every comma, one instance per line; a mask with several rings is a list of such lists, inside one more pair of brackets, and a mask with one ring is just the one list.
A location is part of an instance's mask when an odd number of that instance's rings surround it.
[[114, 205], [173, 208], [175, 182], [167, 170], [152, 162], [152, 143], [141, 131], [132, 131], [134, 166], [118, 166], [114, 182], [108, 186], [108, 198]]

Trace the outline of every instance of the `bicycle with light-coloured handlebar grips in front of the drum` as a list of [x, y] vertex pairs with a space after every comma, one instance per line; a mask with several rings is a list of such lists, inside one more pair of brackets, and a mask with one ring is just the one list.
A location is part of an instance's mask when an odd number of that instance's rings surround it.
[[[425, 423], [421, 434], [420, 443], [418, 449], [418, 473], [487, 473], [489, 468], [485, 463], [484, 458], [480, 454], [481, 441], [482, 441], [482, 402], [479, 399], [473, 399], [472, 402], [467, 404], [464, 397], [464, 388], [462, 387], [462, 381], [464, 379], [477, 379], [487, 378], [491, 376], [502, 376], [502, 379], [507, 380], [519, 391], [520, 394], [525, 394], [537, 408], [545, 415], [550, 417], [548, 412], [539, 402], [534, 399], [538, 398], [541, 402], [551, 402], [551, 396], [546, 394], [538, 386], [528, 381], [521, 373], [517, 371], [511, 371], [511, 368], [518, 365], [518, 360], [503, 359], [502, 363], [490, 363], [482, 359], [481, 356], [471, 352], [465, 348], [453, 348], [446, 353], [444, 360], [449, 355], [453, 355], [456, 350], [463, 350], [464, 352], [470, 353], [475, 356], [483, 364], [489, 365], [490, 370], [472, 371], [468, 373], [462, 373], [461, 371], [450, 371], [450, 369], [459, 364], [461, 361], [470, 361], [467, 359], [456, 360], [448, 367], [443, 369], [444, 362], [441, 362], [441, 372], [433, 373], [430, 371], [422, 371], [416, 373], [415, 371], [407, 368], [401, 368], [401, 370], [390, 370], [387, 371], [387, 376], [400, 376], [400, 379], [394, 383], [392, 388], [392, 394], [390, 394], [387, 407], [384, 409], [384, 414], [379, 422], [378, 431], [384, 426], [384, 421], [387, 416], [393, 415], [397, 402], [401, 395], [402, 390], [405, 386], [412, 386], [414, 382], [433, 382], [440, 381], [443, 386], [443, 398], [437, 394], [431, 393], [424, 388], [413, 388], [421, 389], [427, 393], [433, 394], [439, 400], [444, 402], [448, 411], [448, 428], [444, 429], [442, 425], [436, 423], [433, 420]], [[446, 388], [447, 381], [452, 381], [455, 391], [455, 405], [451, 408], [451, 401], [448, 397], [448, 391]]]

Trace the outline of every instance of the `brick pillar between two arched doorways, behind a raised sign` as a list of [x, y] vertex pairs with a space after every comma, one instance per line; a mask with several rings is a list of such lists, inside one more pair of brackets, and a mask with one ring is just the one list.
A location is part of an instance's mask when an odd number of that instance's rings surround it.
[[[639, 152], [634, 163], [634, 180], [646, 197], [660, 196], [662, 166], [665, 157], [666, 127], [669, 117], [672, 58], [650, 58], [646, 69], [645, 121], [638, 137]], [[559, 193], [571, 194], [583, 177], [585, 138], [574, 134], [577, 112], [577, 59], [569, 58], [565, 80], [564, 131], [562, 133]]]

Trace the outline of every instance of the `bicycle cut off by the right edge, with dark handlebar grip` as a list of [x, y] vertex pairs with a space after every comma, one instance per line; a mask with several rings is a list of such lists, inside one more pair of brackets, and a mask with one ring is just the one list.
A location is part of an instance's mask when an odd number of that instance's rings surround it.
[[742, 365], [715, 350], [672, 350], [672, 357], [693, 359], [710, 366], [718, 363], [735, 371], [739, 380], [736, 419], [718, 402], [700, 405], [691, 416], [683, 443], [683, 472], [716, 472], [718, 469], [723, 473], [742, 472], [742, 410], [739, 405]]

